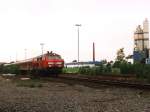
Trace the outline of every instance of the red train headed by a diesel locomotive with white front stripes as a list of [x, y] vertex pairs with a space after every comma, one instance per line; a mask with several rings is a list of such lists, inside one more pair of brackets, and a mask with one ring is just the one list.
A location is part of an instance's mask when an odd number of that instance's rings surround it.
[[51, 52], [13, 63], [19, 67], [22, 73], [60, 73], [64, 67], [64, 60], [60, 55]]

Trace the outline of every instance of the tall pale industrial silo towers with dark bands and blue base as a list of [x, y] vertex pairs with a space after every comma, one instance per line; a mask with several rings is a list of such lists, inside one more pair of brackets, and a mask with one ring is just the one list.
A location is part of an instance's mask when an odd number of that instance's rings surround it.
[[134, 32], [133, 60], [134, 63], [148, 63], [149, 57], [149, 22], [148, 19], [145, 19], [143, 22], [143, 28], [141, 25], [138, 25]]

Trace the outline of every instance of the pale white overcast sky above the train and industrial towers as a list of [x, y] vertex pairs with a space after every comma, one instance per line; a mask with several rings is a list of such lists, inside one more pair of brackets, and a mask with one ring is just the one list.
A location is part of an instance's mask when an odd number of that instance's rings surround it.
[[66, 62], [77, 59], [80, 27], [80, 60], [114, 59], [124, 47], [132, 54], [133, 32], [150, 20], [149, 0], [0, 0], [0, 61], [15, 61], [41, 54], [40, 43]]

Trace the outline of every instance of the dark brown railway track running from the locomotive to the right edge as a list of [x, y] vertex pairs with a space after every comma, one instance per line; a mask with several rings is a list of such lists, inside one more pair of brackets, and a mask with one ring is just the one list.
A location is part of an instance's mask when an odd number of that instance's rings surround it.
[[[106, 76], [107, 77], [107, 76]], [[79, 82], [88, 82], [88, 83], [96, 83], [96, 84], [103, 84], [103, 85], [113, 85], [113, 86], [121, 86], [121, 87], [130, 87], [130, 88], [137, 88], [137, 89], [150, 89], [150, 84], [144, 82], [135, 82], [134, 77], [130, 77], [132, 80], [128, 81], [126, 78], [119, 77], [119, 80], [116, 77], [111, 80], [111, 78], [96, 78], [96, 77], [83, 77], [83, 76], [73, 76], [73, 75], [60, 75], [59, 78], [71, 81], [79, 81]], [[129, 78], [129, 79], [130, 79]]]

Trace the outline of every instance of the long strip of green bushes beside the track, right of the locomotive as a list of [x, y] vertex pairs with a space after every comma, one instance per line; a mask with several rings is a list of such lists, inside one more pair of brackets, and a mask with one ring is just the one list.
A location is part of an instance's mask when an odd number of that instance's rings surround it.
[[131, 64], [126, 61], [116, 61], [113, 66], [110, 63], [107, 63], [106, 65], [100, 64], [96, 67], [65, 68], [65, 72], [92, 76], [101, 74], [133, 74], [136, 75], [137, 78], [150, 81], [150, 65], [141, 63]]

